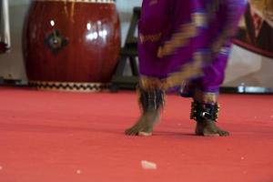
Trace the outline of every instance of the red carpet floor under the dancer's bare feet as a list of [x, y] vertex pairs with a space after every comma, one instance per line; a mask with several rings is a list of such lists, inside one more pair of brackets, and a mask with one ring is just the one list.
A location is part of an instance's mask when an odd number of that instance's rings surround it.
[[154, 136], [136, 137], [124, 135], [139, 114], [134, 92], [1, 87], [0, 182], [273, 182], [273, 96], [220, 103], [229, 137], [194, 136], [179, 96], [167, 96]]

